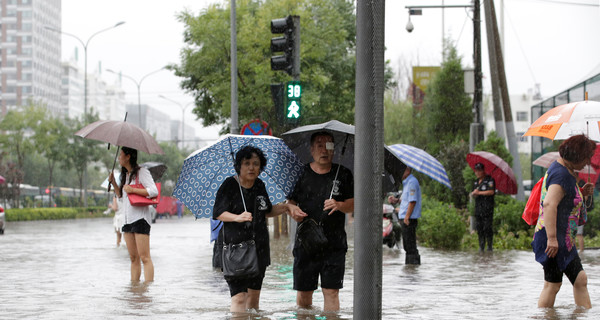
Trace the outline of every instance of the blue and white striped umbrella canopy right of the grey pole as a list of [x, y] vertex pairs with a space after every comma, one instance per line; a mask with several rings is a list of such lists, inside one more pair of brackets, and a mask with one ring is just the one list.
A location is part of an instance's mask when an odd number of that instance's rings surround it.
[[429, 153], [407, 144], [394, 144], [388, 147], [407, 166], [428, 175], [433, 180], [452, 189], [446, 169]]

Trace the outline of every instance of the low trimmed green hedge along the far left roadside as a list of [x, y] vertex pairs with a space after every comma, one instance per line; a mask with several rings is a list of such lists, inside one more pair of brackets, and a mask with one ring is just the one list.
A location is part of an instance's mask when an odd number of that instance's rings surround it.
[[6, 210], [6, 221], [59, 220], [106, 217], [106, 208], [27, 208]]

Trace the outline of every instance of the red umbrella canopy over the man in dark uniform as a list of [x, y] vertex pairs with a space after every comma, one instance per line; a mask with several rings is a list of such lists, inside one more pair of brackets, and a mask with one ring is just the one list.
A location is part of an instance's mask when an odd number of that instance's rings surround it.
[[517, 179], [511, 167], [497, 155], [486, 151], [475, 151], [467, 154], [467, 163], [475, 170], [475, 164], [482, 163], [485, 174], [496, 181], [496, 189], [506, 194], [517, 193]]

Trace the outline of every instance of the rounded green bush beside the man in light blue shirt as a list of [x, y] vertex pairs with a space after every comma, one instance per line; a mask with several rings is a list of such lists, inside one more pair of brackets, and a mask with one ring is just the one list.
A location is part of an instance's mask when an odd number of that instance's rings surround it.
[[459, 249], [465, 232], [461, 210], [433, 199], [423, 201], [417, 228], [420, 244], [436, 249]]

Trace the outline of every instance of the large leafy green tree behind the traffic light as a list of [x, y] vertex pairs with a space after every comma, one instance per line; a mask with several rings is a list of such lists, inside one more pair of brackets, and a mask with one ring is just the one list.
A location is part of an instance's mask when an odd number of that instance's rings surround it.
[[[241, 123], [260, 118], [274, 133], [276, 122], [270, 84], [291, 80], [271, 71], [272, 19], [301, 17], [301, 124], [335, 118], [354, 123], [356, 17], [348, 0], [243, 0], [236, 5], [238, 101]], [[182, 12], [186, 47], [179, 65], [169, 68], [182, 77], [181, 87], [195, 97], [193, 110], [205, 125], [227, 124], [231, 116], [229, 7], [214, 4], [194, 15]], [[392, 83], [388, 67], [386, 79]], [[226, 132], [225, 127], [222, 131]]]

